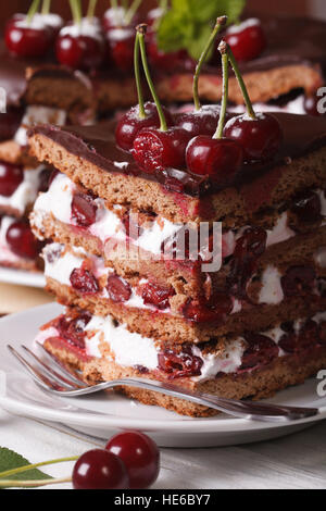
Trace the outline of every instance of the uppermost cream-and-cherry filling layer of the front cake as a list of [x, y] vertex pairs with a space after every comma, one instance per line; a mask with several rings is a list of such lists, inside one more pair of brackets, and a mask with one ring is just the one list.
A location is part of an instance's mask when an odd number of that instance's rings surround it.
[[[286, 241], [296, 233], [317, 227], [325, 211], [324, 192], [308, 190], [281, 205], [271, 229], [246, 226], [223, 230], [222, 246], [217, 250], [222, 252], [224, 264], [230, 266], [228, 287], [233, 294], [239, 298], [246, 296], [246, 285], [266, 248]], [[188, 270], [200, 270], [203, 262], [212, 260], [212, 235], [205, 239], [200, 239], [199, 233], [190, 236], [189, 226], [152, 213], [124, 212], [121, 207], [109, 210], [102, 199], [80, 192], [62, 174], [53, 176], [48, 194], [40, 196], [35, 204], [34, 224], [40, 230], [45, 213], [72, 225], [74, 232], [80, 229], [83, 235], [98, 238], [103, 250], [111, 241], [116, 241], [124, 244], [127, 250], [140, 249], [150, 257], [153, 254], [154, 259]]]

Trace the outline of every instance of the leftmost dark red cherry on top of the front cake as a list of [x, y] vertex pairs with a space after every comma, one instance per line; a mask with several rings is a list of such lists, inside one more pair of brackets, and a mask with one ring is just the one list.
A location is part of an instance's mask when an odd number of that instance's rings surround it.
[[[167, 109], [163, 109], [168, 126], [173, 125], [173, 116]], [[125, 113], [115, 129], [116, 144], [125, 151], [133, 149], [134, 140], [142, 128], [159, 127], [160, 117], [155, 103], [145, 104], [146, 117], [139, 119], [139, 105], [133, 107]]]

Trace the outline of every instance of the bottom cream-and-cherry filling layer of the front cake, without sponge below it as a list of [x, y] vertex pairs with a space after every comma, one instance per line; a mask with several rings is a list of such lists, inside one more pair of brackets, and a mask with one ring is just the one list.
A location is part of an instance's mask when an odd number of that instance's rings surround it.
[[160, 341], [130, 333], [110, 316], [91, 316], [82, 310], [45, 325], [37, 340], [46, 342], [46, 347], [50, 344], [72, 351], [83, 360], [105, 357], [108, 362], [134, 367], [141, 374], [152, 373], [156, 378], [214, 379], [262, 370], [287, 357], [296, 357], [294, 361], [304, 364], [326, 347], [326, 313], [263, 333], [248, 332], [228, 340], [223, 350], [216, 350], [213, 342], [185, 344], [179, 349], [162, 347]]

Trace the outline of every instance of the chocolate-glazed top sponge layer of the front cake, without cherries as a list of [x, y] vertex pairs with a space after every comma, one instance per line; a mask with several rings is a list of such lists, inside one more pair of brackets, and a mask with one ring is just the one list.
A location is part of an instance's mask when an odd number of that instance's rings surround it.
[[130, 153], [116, 146], [112, 122], [89, 127], [37, 126], [29, 133], [29, 145], [39, 161], [47, 161], [109, 204], [153, 212], [171, 222], [223, 221], [236, 227], [302, 189], [323, 186], [325, 179], [325, 119], [273, 115], [284, 132], [275, 159], [247, 164], [237, 182], [223, 189], [208, 176], [183, 169], [143, 172]]

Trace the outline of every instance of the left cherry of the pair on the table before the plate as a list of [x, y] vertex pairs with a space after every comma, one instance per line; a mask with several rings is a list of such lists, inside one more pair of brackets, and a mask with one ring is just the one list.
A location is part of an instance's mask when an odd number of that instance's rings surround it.
[[113, 452], [92, 449], [77, 460], [73, 486], [74, 489], [128, 489], [127, 469]]

